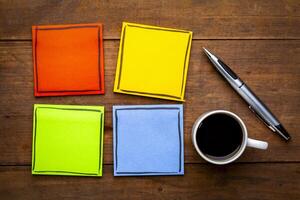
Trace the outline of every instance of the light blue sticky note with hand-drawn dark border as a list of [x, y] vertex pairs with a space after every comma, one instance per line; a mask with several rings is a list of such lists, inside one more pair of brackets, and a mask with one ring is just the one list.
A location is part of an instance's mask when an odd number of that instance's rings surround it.
[[113, 106], [115, 176], [183, 175], [183, 106]]

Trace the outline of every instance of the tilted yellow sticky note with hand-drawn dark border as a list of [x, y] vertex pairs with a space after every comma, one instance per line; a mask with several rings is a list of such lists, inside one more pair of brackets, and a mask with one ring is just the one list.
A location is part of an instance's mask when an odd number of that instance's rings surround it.
[[123, 23], [114, 92], [184, 101], [192, 32]]

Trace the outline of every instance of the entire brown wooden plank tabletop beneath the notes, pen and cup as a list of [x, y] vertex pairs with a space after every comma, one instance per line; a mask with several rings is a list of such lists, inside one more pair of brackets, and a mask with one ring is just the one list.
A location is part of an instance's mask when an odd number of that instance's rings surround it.
[[[113, 177], [112, 105], [173, 101], [114, 94], [123, 21], [194, 32], [184, 103], [185, 175]], [[31, 26], [104, 23], [105, 95], [33, 95]], [[232, 66], [292, 135], [267, 129], [212, 67], [205, 46]], [[299, 199], [300, 2], [289, 1], [0, 1], [0, 199]], [[104, 105], [102, 178], [32, 176], [35, 103]], [[267, 151], [247, 149], [227, 166], [199, 158], [191, 128], [203, 112], [237, 113]]]

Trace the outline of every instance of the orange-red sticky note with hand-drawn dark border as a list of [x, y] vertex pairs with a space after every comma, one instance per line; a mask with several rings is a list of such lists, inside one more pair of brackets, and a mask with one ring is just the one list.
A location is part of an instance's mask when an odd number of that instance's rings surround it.
[[102, 24], [32, 27], [34, 95], [104, 94]]

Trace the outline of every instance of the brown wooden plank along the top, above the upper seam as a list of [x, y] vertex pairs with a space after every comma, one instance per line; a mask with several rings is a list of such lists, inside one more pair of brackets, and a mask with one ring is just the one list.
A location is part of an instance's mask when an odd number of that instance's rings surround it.
[[31, 39], [41, 24], [104, 23], [104, 38], [120, 37], [123, 21], [187, 29], [195, 39], [296, 39], [297, 0], [241, 1], [0, 1], [0, 39]]

